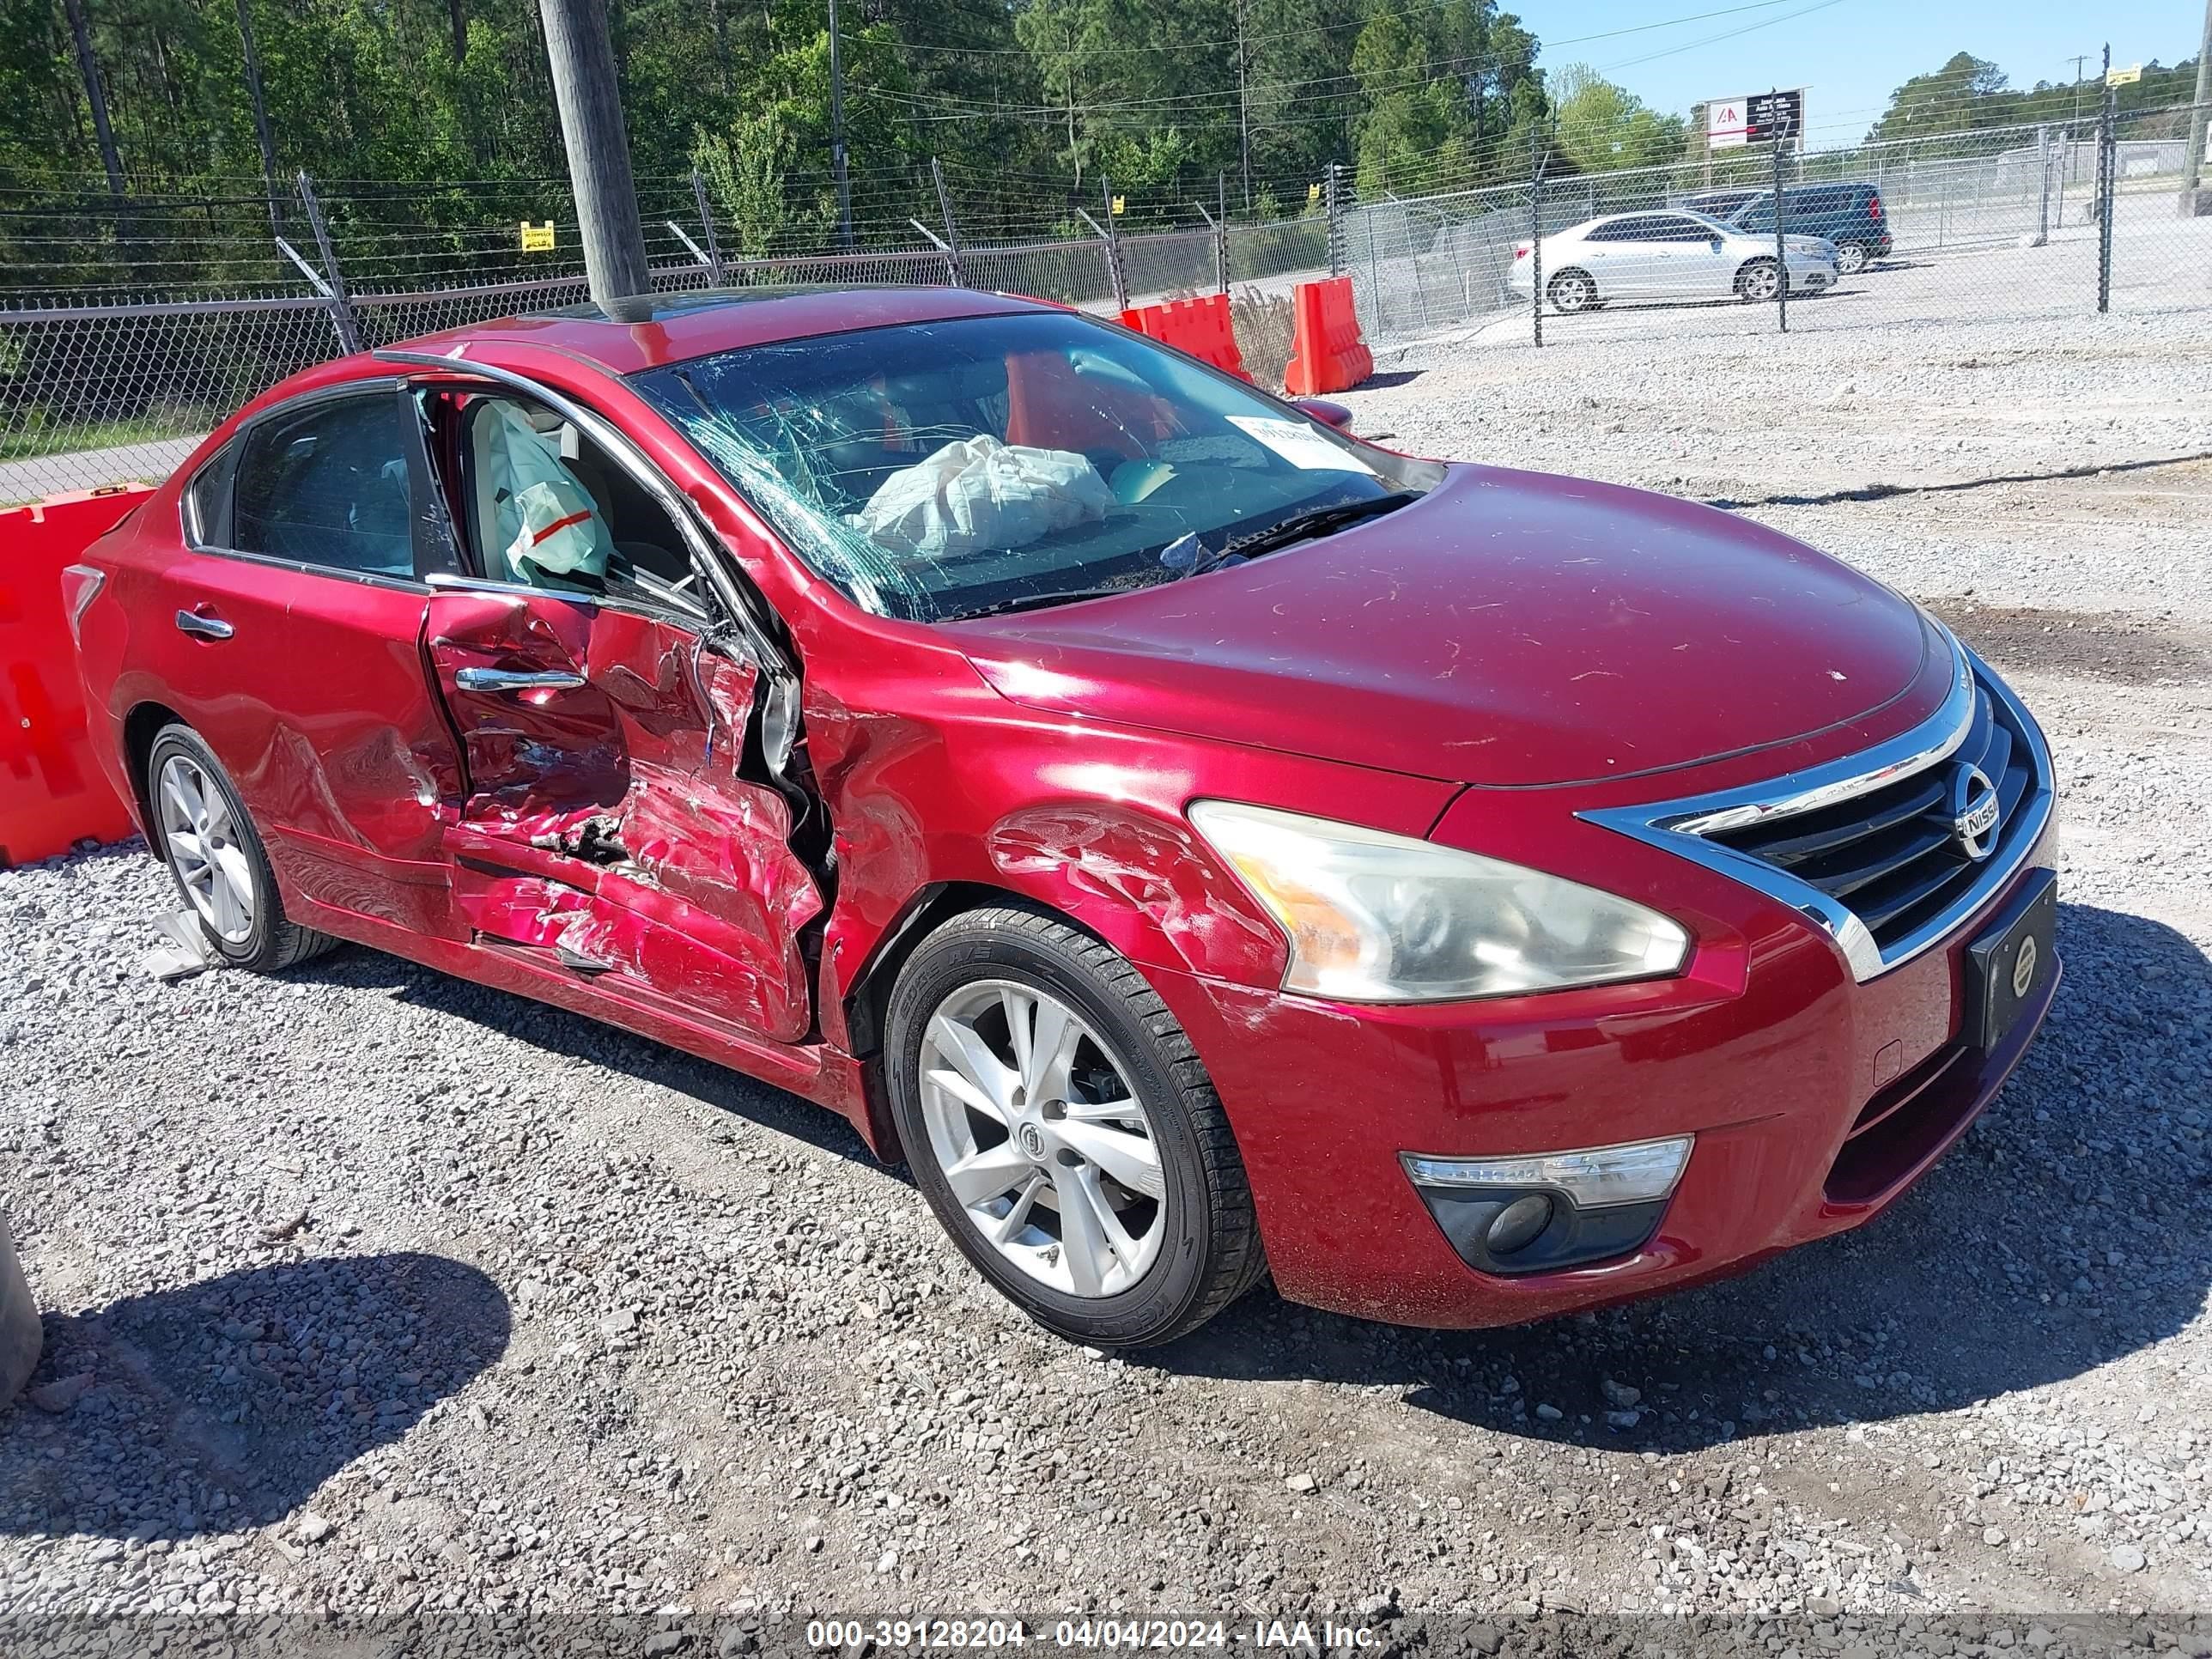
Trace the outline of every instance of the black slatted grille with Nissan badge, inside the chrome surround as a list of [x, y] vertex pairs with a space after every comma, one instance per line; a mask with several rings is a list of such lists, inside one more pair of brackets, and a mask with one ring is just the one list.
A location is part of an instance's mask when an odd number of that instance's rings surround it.
[[[2020, 803], [2037, 783], [2035, 750], [1980, 677], [1973, 690], [1973, 723], [1949, 759], [1832, 807], [1708, 832], [1708, 841], [1840, 900], [1887, 953], [1971, 891], [2026, 827]], [[1971, 838], [1982, 847], [1975, 858], [1958, 818], [1989, 792], [1997, 821]]]

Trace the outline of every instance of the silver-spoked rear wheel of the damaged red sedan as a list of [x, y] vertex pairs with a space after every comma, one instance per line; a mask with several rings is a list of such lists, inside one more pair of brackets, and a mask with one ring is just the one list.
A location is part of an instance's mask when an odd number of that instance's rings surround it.
[[155, 737], [146, 801], [159, 838], [155, 852], [215, 956], [274, 973], [336, 945], [285, 918], [261, 834], [223, 763], [190, 726], [168, 726]]

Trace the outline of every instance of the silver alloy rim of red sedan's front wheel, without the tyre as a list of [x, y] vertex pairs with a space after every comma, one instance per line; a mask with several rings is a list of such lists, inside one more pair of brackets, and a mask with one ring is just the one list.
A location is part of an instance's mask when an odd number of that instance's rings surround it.
[[967, 1223], [1068, 1296], [1115, 1296], [1152, 1267], [1166, 1179], [1128, 1068], [1060, 998], [973, 980], [929, 1015], [929, 1155]]

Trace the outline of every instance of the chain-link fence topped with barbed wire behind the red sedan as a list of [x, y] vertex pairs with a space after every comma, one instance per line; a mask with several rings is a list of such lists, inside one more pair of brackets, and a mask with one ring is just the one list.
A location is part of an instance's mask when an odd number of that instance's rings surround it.
[[[1298, 217], [1155, 206], [1144, 230], [1110, 215], [1106, 186], [1093, 210], [1068, 208], [1055, 234], [1026, 241], [962, 241], [940, 197], [936, 230], [907, 221], [911, 246], [849, 252], [783, 246], [805, 239], [790, 228], [732, 252], [726, 241], [763, 239], [719, 223], [697, 177], [641, 179], [639, 210], [655, 292], [967, 283], [1113, 316], [1221, 290], [1272, 365], [1290, 349], [1292, 285], [1349, 274], [1363, 334], [1383, 347], [1672, 345], [2212, 305], [2212, 188], [2183, 177], [2205, 115], [2093, 111], [1365, 201], [1332, 170]], [[133, 199], [95, 234], [91, 199], [0, 190], [0, 502], [161, 478], [230, 409], [343, 352], [575, 305], [573, 219], [553, 181], [347, 186], [325, 219], [301, 177], [290, 204]], [[1635, 234], [1617, 234], [1624, 221]]]

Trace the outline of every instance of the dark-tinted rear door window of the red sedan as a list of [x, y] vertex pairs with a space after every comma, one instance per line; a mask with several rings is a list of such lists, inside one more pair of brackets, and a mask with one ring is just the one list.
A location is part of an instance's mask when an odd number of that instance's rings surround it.
[[230, 544], [356, 575], [416, 573], [407, 427], [380, 389], [259, 422], [232, 487]]

